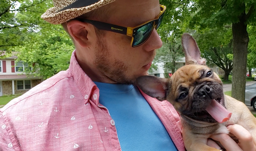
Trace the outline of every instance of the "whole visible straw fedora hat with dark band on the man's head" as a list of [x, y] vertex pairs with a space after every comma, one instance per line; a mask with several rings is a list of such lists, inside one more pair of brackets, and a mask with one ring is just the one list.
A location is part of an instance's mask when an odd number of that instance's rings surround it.
[[54, 7], [48, 9], [41, 18], [52, 24], [60, 24], [114, 1], [115, 0], [53, 0]]

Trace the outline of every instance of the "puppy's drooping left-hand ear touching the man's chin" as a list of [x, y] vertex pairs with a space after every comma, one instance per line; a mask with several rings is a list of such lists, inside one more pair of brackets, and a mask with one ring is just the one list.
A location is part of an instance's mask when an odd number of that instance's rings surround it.
[[168, 79], [145, 75], [137, 78], [136, 85], [143, 91], [143, 93], [151, 97], [155, 97], [158, 100], [166, 99]]

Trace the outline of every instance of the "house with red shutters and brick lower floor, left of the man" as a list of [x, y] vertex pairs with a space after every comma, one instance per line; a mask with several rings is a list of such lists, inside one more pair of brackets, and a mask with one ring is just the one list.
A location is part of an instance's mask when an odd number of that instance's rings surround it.
[[23, 71], [28, 66], [21, 61], [15, 64], [17, 58], [15, 55], [0, 58], [0, 96], [24, 94], [42, 81], [41, 78], [27, 77]]

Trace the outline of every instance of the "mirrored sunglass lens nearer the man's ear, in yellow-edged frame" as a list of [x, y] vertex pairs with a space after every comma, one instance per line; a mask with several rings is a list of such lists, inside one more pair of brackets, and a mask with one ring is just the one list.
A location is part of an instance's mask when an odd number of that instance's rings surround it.
[[153, 26], [154, 26], [154, 22], [149, 22], [143, 25], [142, 27], [140, 27], [134, 35], [132, 46], [138, 46], [144, 43], [150, 36]]

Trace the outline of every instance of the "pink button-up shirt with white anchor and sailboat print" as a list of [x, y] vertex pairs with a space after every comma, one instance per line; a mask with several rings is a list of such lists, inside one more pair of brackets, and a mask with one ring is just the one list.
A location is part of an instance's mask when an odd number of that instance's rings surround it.
[[[0, 110], [0, 150], [121, 150], [99, 89], [76, 61]], [[146, 94], [178, 150], [185, 150], [173, 106]]]

